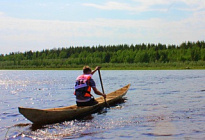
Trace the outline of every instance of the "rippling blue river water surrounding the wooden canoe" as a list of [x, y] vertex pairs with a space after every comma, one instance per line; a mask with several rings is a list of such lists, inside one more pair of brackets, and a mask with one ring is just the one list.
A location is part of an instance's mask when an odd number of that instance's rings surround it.
[[[205, 139], [205, 70], [102, 70], [106, 93], [131, 84], [124, 103], [43, 128], [18, 112], [75, 104], [81, 73], [1, 70], [0, 139]], [[98, 73], [93, 79], [100, 90]]]

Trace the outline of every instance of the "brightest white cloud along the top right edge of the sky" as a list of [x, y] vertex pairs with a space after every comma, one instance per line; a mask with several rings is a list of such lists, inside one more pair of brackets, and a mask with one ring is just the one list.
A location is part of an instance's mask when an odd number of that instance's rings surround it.
[[[170, 6], [183, 4], [185, 7], [177, 7], [175, 9], [185, 11], [198, 11], [205, 9], [204, 0], [132, 0], [134, 3], [108, 1], [104, 4], [84, 3], [84, 6], [90, 6], [102, 10], [126, 10], [131, 12], [145, 11], [167, 11]], [[153, 8], [158, 6], [157, 8]]]

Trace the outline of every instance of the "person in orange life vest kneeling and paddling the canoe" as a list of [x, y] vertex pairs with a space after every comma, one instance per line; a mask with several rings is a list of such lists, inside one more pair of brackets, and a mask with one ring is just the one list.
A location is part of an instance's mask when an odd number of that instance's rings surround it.
[[100, 67], [97, 66], [94, 71], [91, 70], [89, 66], [83, 67], [83, 74], [79, 75], [75, 83], [75, 92], [76, 104], [77, 106], [92, 106], [98, 102], [94, 99], [91, 94], [91, 88], [97, 95], [101, 95], [106, 98], [106, 95], [101, 93], [97, 88], [95, 81], [92, 79], [92, 75], [100, 70]]

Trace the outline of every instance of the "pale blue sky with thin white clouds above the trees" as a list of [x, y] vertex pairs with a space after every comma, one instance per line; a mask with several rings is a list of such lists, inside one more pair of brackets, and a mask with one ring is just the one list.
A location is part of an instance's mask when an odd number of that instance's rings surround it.
[[0, 54], [205, 39], [205, 0], [0, 0]]

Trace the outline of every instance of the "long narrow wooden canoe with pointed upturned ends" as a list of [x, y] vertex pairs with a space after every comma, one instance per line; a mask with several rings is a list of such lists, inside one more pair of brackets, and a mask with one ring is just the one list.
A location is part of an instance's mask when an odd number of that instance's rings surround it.
[[[114, 104], [121, 100], [122, 97], [127, 93], [130, 84], [120, 88], [114, 92], [107, 94], [106, 101], [108, 104]], [[97, 105], [77, 107], [76, 105], [61, 107], [61, 108], [50, 108], [50, 109], [34, 109], [19, 107], [19, 112], [28, 120], [34, 124], [51, 124], [56, 122], [62, 122], [65, 120], [76, 119], [93, 112], [105, 106], [105, 100], [103, 97], [96, 98], [98, 101]]]

